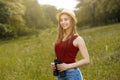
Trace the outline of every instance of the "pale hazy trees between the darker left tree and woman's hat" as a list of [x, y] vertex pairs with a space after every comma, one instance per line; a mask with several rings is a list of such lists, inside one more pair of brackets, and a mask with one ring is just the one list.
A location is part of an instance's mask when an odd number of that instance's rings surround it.
[[26, 6], [24, 18], [27, 26], [41, 29], [55, 24], [53, 17], [57, 11], [55, 7], [40, 5], [37, 0], [26, 0], [24, 5]]

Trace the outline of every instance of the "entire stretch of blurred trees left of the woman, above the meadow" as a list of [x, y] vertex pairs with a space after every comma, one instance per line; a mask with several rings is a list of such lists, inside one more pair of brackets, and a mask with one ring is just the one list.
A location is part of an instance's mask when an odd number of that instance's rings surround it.
[[55, 26], [56, 12], [54, 6], [40, 5], [37, 0], [0, 0], [0, 36], [26, 35]]

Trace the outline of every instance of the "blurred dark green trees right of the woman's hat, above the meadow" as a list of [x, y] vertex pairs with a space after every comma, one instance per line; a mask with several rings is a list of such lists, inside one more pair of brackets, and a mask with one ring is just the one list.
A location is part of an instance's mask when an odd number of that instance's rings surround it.
[[77, 0], [79, 26], [120, 22], [120, 0]]

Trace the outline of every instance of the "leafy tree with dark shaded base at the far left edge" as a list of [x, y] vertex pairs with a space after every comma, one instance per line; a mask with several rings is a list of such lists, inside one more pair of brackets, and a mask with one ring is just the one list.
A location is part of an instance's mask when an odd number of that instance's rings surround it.
[[22, 0], [0, 0], [0, 29], [4, 33], [4, 35], [2, 33], [0, 35], [17, 36], [22, 33], [25, 27], [24, 12], [25, 7], [22, 4]]

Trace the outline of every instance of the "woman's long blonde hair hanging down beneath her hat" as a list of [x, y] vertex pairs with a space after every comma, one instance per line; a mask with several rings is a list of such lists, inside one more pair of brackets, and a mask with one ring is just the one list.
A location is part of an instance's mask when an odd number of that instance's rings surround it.
[[[63, 14], [65, 14], [65, 13], [63, 13]], [[68, 15], [68, 14], [66, 14], [66, 15]], [[71, 17], [70, 15], [68, 15], [68, 16]], [[71, 17], [71, 27], [72, 27], [72, 30], [71, 30], [70, 34], [67, 36], [66, 40], [71, 38], [74, 34], [78, 34], [77, 30], [76, 30], [76, 23], [72, 17]], [[58, 35], [57, 35], [56, 43], [59, 43], [63, 40], [64, 34], [65, 34], [65, 32], [62, 29], [62, 27], [60, 26], [60, 21], [59, 21], [58, 22]]]

